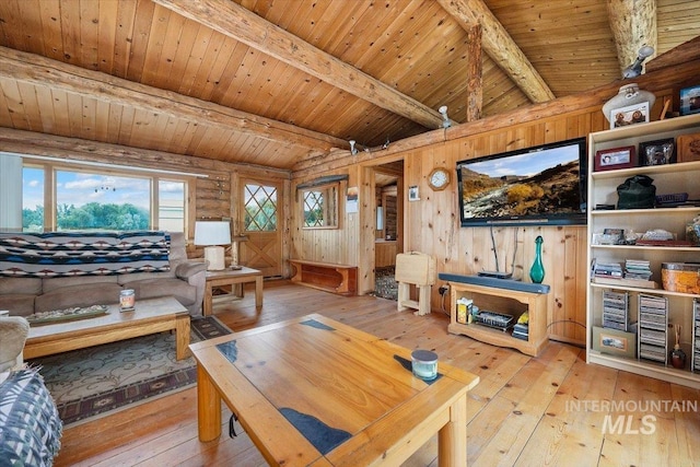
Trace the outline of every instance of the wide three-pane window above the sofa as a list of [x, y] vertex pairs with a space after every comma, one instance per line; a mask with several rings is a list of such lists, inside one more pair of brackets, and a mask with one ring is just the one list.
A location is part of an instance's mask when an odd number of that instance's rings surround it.
[[[46, 189], [47, 184], [54, 189]], [[22, 189], [25, 232], [45, 227], [185, 232], [185, 180], [94, 167], [25, 165]], [[45, 210], [46, 206], [51, 209]]]

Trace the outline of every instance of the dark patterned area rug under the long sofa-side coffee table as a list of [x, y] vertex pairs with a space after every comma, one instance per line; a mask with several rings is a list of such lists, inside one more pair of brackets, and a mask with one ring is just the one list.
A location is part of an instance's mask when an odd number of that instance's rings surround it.
[[[191, 319], [190, 342], [231, 334], [215, 316]], [[65, 425], [197, 382], [195, 359], [177, 360], [175, 335], [159, 332], [33, 359]]]

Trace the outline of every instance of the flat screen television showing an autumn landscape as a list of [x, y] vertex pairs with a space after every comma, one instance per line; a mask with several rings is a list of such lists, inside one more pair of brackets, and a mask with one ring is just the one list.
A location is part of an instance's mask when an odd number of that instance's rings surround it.
[[462, 226], [586, 223], [586, 140], [457, 162]]

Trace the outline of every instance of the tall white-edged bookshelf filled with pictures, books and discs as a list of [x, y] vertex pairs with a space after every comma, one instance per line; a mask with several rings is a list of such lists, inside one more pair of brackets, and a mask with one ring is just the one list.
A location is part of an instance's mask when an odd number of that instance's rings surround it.
[[[635, 147], [643, 141], [654, 141], [665, 138], [676, 138], [679, 135], [700, 132], [700, 115], [678, 117], [649, 124], [592, 133], [588, 137], [588, 167], [594, 166], [595, 154], [599, 150]], [[617, 202], [617, 186], [627, 178], [644, 174], [654, 179], [657, 195], [688, 192], [690, 199], [700, 198], [700, 162], [685, 162], [656, 166], [640, 166], [616, 171], [593, 172], [588, 175], [588, 264], [592, 261], [616, 261], [625, 264], [626, 259], [641, 259], [650, 261], [653, 272], [652, 280], [658, 282], [658, 289], [630, 287], [627, 282], [620, 284], [594, 283], [588, 278], [587, 288], [587, 338], [586, 360], [618, 370], [656, 377], [676, 384], [700, 388], [700, 374], [691, 371], [692, 332], [693, 332], [693, 299], [700, 295], [672, 292], [664, 290], [662, 284], [663, 262], [700, 262], [700, 247], [684, 246], [641, 246], [641, 245], [596, 245], [593, 235], [608, 229], [625, 229], [635, 233], [644, 233], [653, 229], [664, 229], [677, 235], [677, 240], [685, 240], [686, 224], [700, 214], [700, 207], [676, 207], [632, 210], [596, 210], [596, 205], [615, 205]], [[630, 316], [638, 322], [637, 342], [640, 342], [640, 295], [654, 295], [668, 303], [667, 326], [678, 324], [682, 326], [680, 346], [686, 353], [687, 361], [684, 370], [666, 362], [640, 358], [639, 348], [633, 357], [625, 357], [594, 349], [593, 328], [600, 327], [603, 322], [603, 295], [605, 291], [615, 290], [628, 292], [630, 295]], [[643, 320], [643, 319], [642, 319]], [[673, 349], [675, 339], [673, 329], [666, 330], [666, 351]], [[642, 340], [643, 341], [643, 340]]]

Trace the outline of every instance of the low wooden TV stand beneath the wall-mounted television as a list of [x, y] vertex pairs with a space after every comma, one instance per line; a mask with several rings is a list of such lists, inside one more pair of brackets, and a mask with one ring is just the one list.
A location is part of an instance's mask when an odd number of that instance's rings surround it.
[[[523, 292], [511, 289], [451, 282], [450, 325], [447, 330], [499, 347], [517, 349], [528, 355], [537, 357], [548, 342], [547, 339], [547, 294]], [[474, 300], [474, 304], [481, 311], [505, 313], [514, 317], [514, 322], [528, 312], [528, 339], [517, 339], [512, 336], [512, 329], [499, 330], [480, 324], [462, 324], [457, 322], [457, 300], [466, 297]]]

